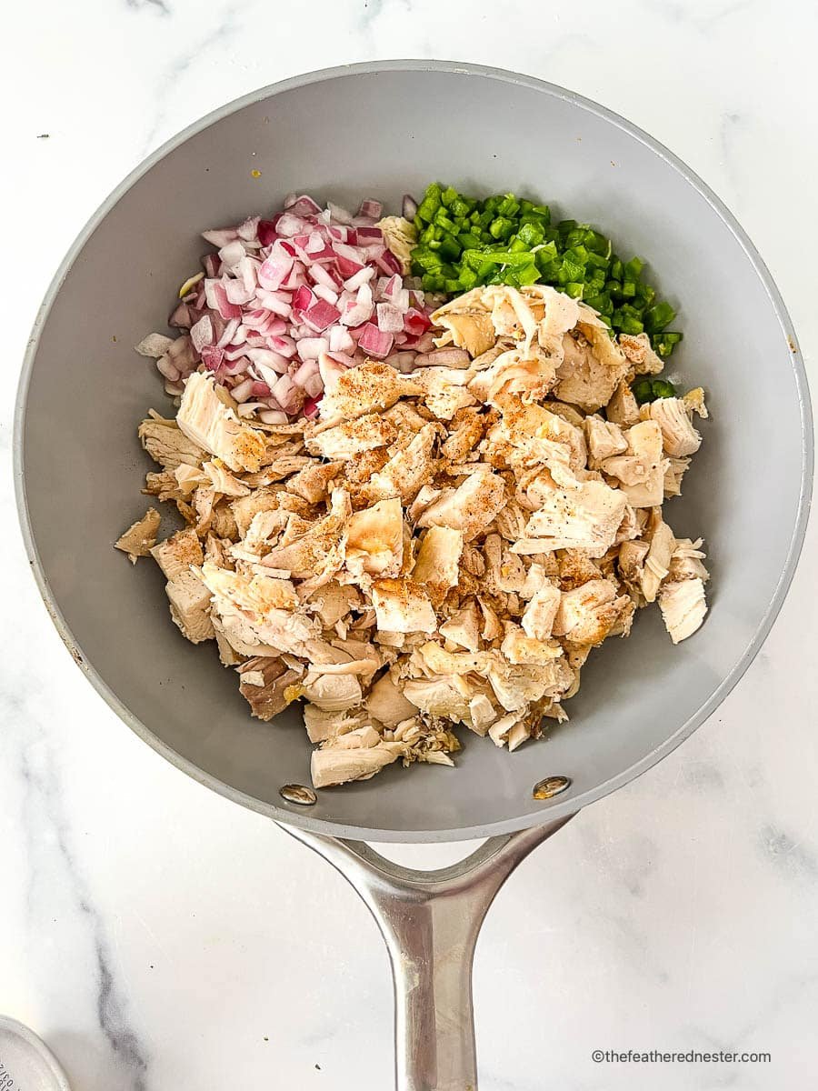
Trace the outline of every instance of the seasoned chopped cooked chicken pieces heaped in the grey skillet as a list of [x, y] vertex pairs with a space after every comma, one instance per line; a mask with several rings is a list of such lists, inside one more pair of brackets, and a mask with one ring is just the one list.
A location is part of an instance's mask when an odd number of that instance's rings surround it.
[[[382, 221], [408, 261], [411, 225]], [[392, 238], [392, 235], [389, 236]], [[402, 241], [402, 249], [401, 249]], [[701, 442], [701, 389], [636, 404], [648, 338], [611, 337], [553, 288], [476, 288], [433, 316], [462, 368], [327, 364], [318, 417], [241, 419], [206, 372], [140, 436], [153, 508], [117, 542], [154, 556], [173, 621], [215, 639], [253, 716], [303, 700], [316, 788], [452, 765], [455, 728], [515, 751], [564, 720], [591, 649], [658, 602], [674, 643], [707, 604], [701, 540], [665, 496]]]

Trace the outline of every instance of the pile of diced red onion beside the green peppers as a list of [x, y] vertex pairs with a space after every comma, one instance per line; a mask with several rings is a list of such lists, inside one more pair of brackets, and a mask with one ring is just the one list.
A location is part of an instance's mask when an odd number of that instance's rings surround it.
[[324, 389], [368, 356], [400, 370], [462, 363], [462, 350], [434, 351], [423, 292], [386, 248], [375, 224], [382, 215], [372, 199], [351, 216], [290, 194], [269, 219], [206, 231], [218, 253], [203, 257], [204, 279], [170, 316], [191, 334], [157, 361], [166, 387], [180, 389], [205, 367], [232, 388], [242, 416], [284, 421], [300, 410], [314, 416]]

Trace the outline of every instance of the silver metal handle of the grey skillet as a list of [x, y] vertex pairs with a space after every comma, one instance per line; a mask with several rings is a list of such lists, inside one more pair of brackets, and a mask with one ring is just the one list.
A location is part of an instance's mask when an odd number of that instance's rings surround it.
[[433, 872], [402, 867], [361, 841], [281, 826], [341, 873], [386, 940], [396, 1091], [477, 1091], [471, 967], [480, 926], [515, 867], [570, 817], [493, 837]]

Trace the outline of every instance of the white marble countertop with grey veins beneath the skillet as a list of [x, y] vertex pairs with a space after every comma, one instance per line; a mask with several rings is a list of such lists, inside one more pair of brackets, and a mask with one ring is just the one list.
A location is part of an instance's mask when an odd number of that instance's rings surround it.
[[[818, 15], [806, 0], [785, 10], [14, 4], [0, 76], [9, 389], [64, 249], [158, 143], [299, 70], [435, 55], [563, 83], [670, 145], [760, 248], [815, 375]], [[166, 765], [87, 685], [19, 541], [11, 395], [0, 445], [0, 1011], [48, 1040], [76, 1091], [383, 1091], [390, 991], [365, 910], [268, 822]], [[484, 1091], [815, 1086], [817, 562], [814, 526], [770, 639], [719, 712], [501, 894], [476, 967]], [[772, 1063], [594, 1065], [597, 1047], [769, 1051]]]

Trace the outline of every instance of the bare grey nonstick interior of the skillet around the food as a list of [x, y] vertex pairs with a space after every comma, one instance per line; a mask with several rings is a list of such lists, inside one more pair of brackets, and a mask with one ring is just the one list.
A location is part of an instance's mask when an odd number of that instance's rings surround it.
[[[260, 177], [253, 177], [260, 171]], [[309, 783], [291, 710], [251, 720], [232, 672], [168, 616], [163, 577], [111, 548], [145, 509], [135, 435], [168, 403], [132, 346], [199, 267], [197, 232], [274, 209], [291, 191], [399, 207], [431, 179], [513, 189], [599, 225], [645, 255], [677, 301], [671, 377], [708, 391], [712, 421], [667, 518], [702, 535], [711, 612], [674, 648], [657, 609], [591, 656], [570, 722], [514, 755], [462, 732], [456, 769], [390, 767], [286, 804]], [[116, 339], [115, 339], [116, 338]], [[21, 384], [16, 478], [48, 608], [93, 684], [146, 742], [238, 802], [368, 840], [476, 838], [570, 813], [626, 783], [715, 708], [758, 650], [793, 574], [807, 516], [811, 425], [803, 363], [758, 254], [718, 199], [665, 148], [560, 87], [474, 65], [377, 62], [299, 76], [175, 137], [111, 194], [55, 279]], [[572, 788], [532, 800], [545, 776]]]

